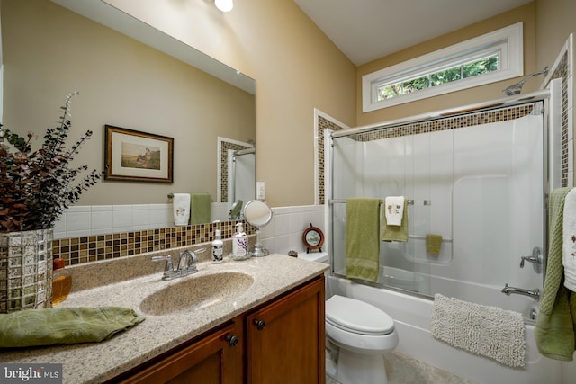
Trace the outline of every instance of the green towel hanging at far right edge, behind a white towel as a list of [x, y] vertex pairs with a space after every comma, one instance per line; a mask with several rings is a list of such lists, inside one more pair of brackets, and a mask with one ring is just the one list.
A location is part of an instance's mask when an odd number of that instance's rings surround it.
[[564, 287], [563, 210], [572, 188], [558, 188], [548, 203], [548, 260], [534, 335], [538, 351], [550, 359], [571, 362], [576, 335], [576, 293]]

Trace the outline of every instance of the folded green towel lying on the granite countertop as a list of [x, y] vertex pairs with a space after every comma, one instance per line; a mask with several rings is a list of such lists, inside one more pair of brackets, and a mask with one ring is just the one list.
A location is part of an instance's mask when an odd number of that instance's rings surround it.
[[101, 342], [142, 321], [122, 307], [25, 309], [0, 315], [0, 348]]

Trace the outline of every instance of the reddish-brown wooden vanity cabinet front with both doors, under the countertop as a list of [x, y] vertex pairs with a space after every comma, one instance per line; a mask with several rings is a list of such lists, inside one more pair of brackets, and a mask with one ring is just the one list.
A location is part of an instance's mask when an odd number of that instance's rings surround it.
[[108, 382], [320, 383], [323, 298], [320, 276]]

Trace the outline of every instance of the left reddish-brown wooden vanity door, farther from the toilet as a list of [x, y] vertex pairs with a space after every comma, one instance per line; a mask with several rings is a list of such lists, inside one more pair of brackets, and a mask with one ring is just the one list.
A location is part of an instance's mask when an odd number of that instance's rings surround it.
[[240, 334], [241, 326], [234, 322], [120, 382], [239, 384], [243, 344]]

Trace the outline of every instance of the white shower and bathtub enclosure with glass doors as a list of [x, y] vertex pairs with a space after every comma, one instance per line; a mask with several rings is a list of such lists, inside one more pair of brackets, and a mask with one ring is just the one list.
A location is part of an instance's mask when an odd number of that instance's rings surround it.
[[[528, 75], [509, 92], [519, 94], [527, 78], [546, 73]], [[329, 292], [388, 313], [401, 335], [398, 352], [474, 382], [560, 382], [550, 373], [561, 371], [560, 363], [540, 355], [534, 339], [545, 272], [539, 258], [546, 249], [545, 179], [550, 188], [561, 186], [560, 156], [554, 155], [560, 153], [560, 128], [553, 118], [561, 113], [561, 80], [549, 86], [504, 103], [429, 113], [428, 120], [419, 115], [329, 133]], [[502, 118], [511, 115], [516, 117]], [[413, 200], [409, 241], [381, 244], [377, 282], [347, 280], [346, 199], [392, 195]], [[428, 232], [443, 237], [439, 255], [427, 251]], [[533, 268], [522, 268], [526, 262]], [[526, 369], [462, 353], [431, 337], [436, 293], [523, 314]]]

